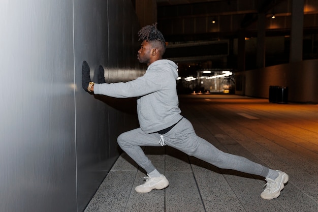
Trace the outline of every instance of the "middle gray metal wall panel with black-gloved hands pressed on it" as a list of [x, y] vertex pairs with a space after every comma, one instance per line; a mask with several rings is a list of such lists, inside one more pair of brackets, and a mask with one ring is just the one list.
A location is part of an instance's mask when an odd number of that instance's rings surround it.
[[81, 84], [83, 60], [96, 82], [99, 65], [107, 59], [107, 15], [107, 1], [74, 1], [78, 211], [85, 208], [108, 168], [108, 106]]

